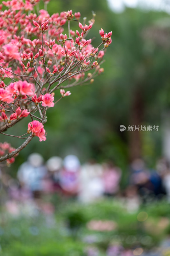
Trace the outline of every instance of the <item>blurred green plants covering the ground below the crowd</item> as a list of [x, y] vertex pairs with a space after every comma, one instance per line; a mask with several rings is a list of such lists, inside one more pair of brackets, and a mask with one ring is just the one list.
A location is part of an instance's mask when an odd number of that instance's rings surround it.
[[[21, 212], [12, 217], [1, 209], [1, 253], [3, 256], [80, 256], [91, 245], [99, 249], [100, 255], [106, 255], [110, 244], [130, 249], [159, 246], [170, 232], [169, 221], [163, 228], [159, 225], [169, 220], [169, 204], [155, 202], [141, 206], [137, 212], [128, 212], [125, 205], [120, 200], [106, 198], [89, 205], [65, 200], [57, 204], [54, 216], [41, 212], [30, 216]], [[137, 216], [144, 211], [148, 218], [140, 222]], [[112, 220], [117, 226], [112, 231], [90, 230], [87, 223], [91, 220]]]

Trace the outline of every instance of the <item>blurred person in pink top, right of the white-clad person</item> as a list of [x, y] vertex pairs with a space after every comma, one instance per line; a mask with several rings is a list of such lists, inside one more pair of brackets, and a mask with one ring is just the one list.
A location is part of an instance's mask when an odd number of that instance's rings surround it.
[[119, 182], [122, 171], [112, 162], [104, 164], [103, 170], [102, 180], [104, 185], [104, 194], [106, 196], [113, 196], [119, 191]]

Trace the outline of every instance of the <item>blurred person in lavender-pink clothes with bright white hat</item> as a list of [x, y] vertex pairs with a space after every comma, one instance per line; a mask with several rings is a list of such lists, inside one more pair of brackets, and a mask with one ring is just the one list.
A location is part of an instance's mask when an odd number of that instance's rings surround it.
[[59, 184], [66, 195], [76, 196], [79, 190], [80, 161], [77, 156], [68, 155], [63, 160], [59, 173]]

